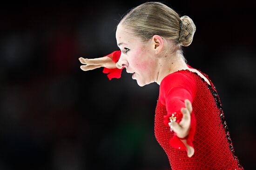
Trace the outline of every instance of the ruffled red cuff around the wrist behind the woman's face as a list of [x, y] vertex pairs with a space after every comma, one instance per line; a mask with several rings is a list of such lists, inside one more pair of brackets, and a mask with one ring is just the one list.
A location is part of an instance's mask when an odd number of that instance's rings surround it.
[[[115, 63], [117, 63], [117, 61], [120, 59], [121, 56], [121, 51], [114, 51], [108, 55], [106, 55], [107, 57], [111, 58]], [[105, 57], [105, 56], [104, 56]], [[108, 74], [108, 79], [111, 80], [112, 78], [121, 78], [121, 73], [122, 73], [122, 69], [118, 69], [118, 68], [104, 68], [103, 69], [103, 73]]]

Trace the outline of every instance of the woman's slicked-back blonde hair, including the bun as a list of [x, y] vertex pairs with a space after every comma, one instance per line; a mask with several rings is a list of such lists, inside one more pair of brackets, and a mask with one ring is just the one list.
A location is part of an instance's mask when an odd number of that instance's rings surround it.
[[188, 16], [180, 18], [178, 13], [160, 2], [146, 2], [135, 7], [119, 24], [142, 41], [159, 35], [173, 40], [179, 46], [189, 46], [195, 33], [193, 20]]

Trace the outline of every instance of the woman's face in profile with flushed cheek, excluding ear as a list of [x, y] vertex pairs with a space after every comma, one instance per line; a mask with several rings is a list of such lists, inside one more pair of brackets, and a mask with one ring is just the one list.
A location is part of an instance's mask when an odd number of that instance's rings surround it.
[[154, 46], [150, 41], [142, 43], [141, 39], [121, 26], [117, 26], [116, 42], [121, 49], [121, 56], [117, 64], [126, 68], [126, 72], [132, 73], [132, 78], [138, 85], [144, 86], [156, 81], [157, 59]]

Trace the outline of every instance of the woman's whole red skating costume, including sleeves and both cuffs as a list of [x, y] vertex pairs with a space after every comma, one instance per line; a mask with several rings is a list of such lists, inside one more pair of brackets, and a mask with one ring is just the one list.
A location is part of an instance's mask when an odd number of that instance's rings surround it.
[[[118, 51], [111, 54], [116, 54], [115, 58], [120, 57]], [[121, 76], [121, 70], [113, 72], [115, 74], [112, 75]], [[180, 70], [163, 78], [155, 109], [155, 137], [165, 150], [173, 170], [243, 170], [234, 153], [216, 88], [209, 77], [202, 74], [210, 85], [189, 70]], [[192, 157], [187, 156], [185, 145], [168, 125], [172, 114], [177, 123], [181, 121], [180, 110], [185, 107], [185, 99], [189, 99], [193, 107], [186, 137], [187, 144], [195, 149]]]

